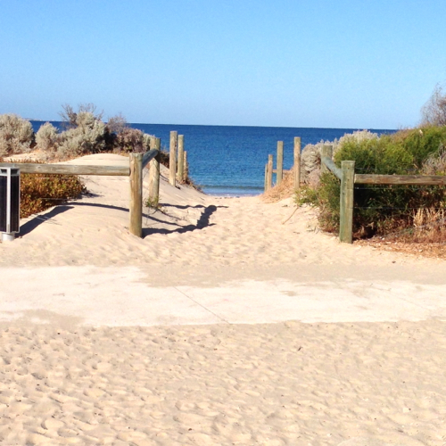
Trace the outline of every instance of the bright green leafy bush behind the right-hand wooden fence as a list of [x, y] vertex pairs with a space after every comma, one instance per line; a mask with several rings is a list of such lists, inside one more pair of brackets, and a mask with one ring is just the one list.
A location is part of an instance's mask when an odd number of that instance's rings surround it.
[[[431, 169], [439, 166], [434, 160], [442, 156], [439, 147], [446, 142], [446, 139], [442, 142], [443, 137], [439, 128], [427, 128], [422, 133], [414, 129], [379, 138], [347, 138], [339, 145], [334, 161], [338, 167], [342, 161], [355, 161], [358, 173], [422, 173], [427, 166]], [[316, 193], [310, 195], [310, 202], [320, 209], [320, 225], [327, 231], [339, 228], [339, 196], [340, 181], [331, 173], [321, 176]], [[441, 186], [356, 185], [353, 234], [362, 237], [409, 227], [414, 224], [414, 210], [445, 206], [446, 194]]]

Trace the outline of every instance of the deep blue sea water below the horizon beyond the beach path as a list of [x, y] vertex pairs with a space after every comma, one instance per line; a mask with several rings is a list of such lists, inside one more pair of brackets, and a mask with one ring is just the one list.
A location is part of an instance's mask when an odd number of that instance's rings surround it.
[[[43, 123], [31, 121], [35, 131]], [[60, 127], [59, 122], [54, 125]], [[293, 166], [294, 136], [301, 136], [301, 147], [319, 141], [333, 141], [358, 128], [278, 128], [236, 126], [189, 126], [170, 124], [131, 124], [161, 138], [169, 148], [169, 132], [185, 136], [189, 173], [206, 194], [255, 195], [264, 186], [268, 154], [276, 160], [277, 141], [284, 141], [284, 169]], [[395, 130], [370, 129], [383, 134]], [[276, 162], [276, 161], [275, 161]]]

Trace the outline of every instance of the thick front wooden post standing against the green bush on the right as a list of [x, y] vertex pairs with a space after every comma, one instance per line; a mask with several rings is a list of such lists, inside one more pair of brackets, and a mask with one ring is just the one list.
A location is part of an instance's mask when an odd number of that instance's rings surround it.
[[341, 180], [341, 202], [339, 240], [345, 244], [353, 241], [353, 193], [355, 186], [355, 161], [343, 161]]

